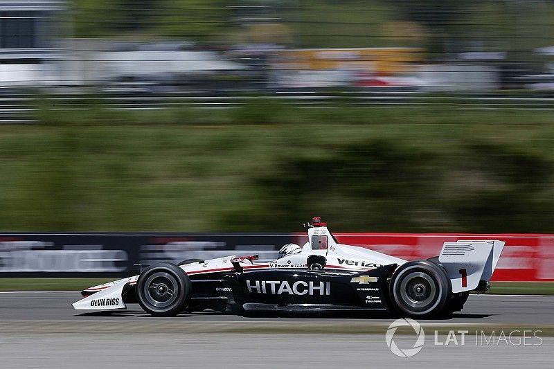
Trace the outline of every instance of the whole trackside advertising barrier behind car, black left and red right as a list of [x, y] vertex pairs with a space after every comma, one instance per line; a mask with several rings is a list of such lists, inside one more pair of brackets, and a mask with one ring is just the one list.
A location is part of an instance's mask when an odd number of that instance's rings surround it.
[[[492, 280], [554, 280], [554, 235], [334, 233], [343, 244], [406, 260], [438, 255], [444, 242], [506, 242]], [[283, 244], [307, 241], [305, 233], [0, 233], [0, 277], [129, 276], [157, 262], [259, 254], [274, 260]]]

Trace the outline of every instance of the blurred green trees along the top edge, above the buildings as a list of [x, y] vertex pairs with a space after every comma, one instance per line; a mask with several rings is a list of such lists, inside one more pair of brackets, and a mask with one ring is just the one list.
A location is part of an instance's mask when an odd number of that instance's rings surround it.
[[553, 17], [551, 1], [494, 0], [73, 0], [71, 9], [76, 37], [508, 51], [519, 62], [551, 46]]

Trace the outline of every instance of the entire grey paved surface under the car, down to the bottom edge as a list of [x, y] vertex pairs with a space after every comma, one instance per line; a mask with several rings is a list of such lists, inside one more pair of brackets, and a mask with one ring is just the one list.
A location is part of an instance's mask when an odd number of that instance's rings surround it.
[[[509, 330], [552, 327], [554, 296], [472, 295], [454, 318], [422, 321], [425, 344], [407, 358], [387, 346], [385, 332], [393, 321], [388, 316], [247, 318], [205, 312], [153, 318], [134, 305], [127, 312], [77, 312], [71, 303], [78, 298], [76, 293], [0, 294], [0, 368], [554, 368], [552, 334], [539, 332], [538, 339], [531, 332], [527, 342], [500, 338], [508, 325]], [[434, 323], [465, 327], [465, 343], [457, 334], [457, 345], [445, 345], [445, 333], [434, 336], [425, 325]], [[252, 329], [207, 332], [237, 325]], [[257, 330], [264, 325], [286, 329]], [[353, 332], [364, 325], [381, 330]], [[477, 333], [485, 325], [498, 327], [494, 339]], [[303, 326], [330, 329], [305, 333], [297, 329]], [[352, 332], [339, 330], [345, 326]], [[416, 342], [415, 335], [393, 339], [403, 350]]]

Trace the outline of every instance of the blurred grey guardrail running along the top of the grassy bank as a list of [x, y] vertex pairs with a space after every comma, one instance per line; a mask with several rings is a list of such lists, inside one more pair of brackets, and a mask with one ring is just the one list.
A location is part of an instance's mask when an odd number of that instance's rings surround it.
[[[50, 96], [60, 107], [51, 109], [84, 110], [87, 105], [81, 104], [84, 96]], [[119, 96], [102, 96], [96, 101], [104, 109], [114, 110], [145, 110], [167, 109], [186, 105], [198, 109], [225, 109], [245, 104], [260, 96], [195, 96], [183, 95], [151, 95], [136, 96], [132, 93]], [[375, 91], [354, 92], [345, 94], [325, 94], [319, 92], [276, 91], [264, 96], [267, 100], [281, 100], [294, 103], [306, 109], [314, 107], [340, 107], [348, 104], [352, 107], [395, 107], [397, 105], [456, 105], [456, 109], [554, 109], [554, 96], [438, 96], [429, 93]], [[444, 102], [445, 98], [448, 102]], [[15, 95], [0, 98], [0, 123], [33, 123], [37, 120], [35, 100], [26, 95]]]

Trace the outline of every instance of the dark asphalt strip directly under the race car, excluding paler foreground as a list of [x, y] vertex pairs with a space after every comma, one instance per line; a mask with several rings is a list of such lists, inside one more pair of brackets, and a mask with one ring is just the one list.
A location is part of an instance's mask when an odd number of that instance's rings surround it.
[[[343, 314], [341, 316], [262, 316], [242, 317], [211, 312], [154, 318], [139, 305], [114, 312], [76, 311], [71, 303], [81, 298], [78, 292], [3, 292], [0, 293], [0, 321], [375, 321], [391, 322], [386, 314]], [[470, 295], [462, 312], [441, 323], [554, 325], [554, 296]]]

